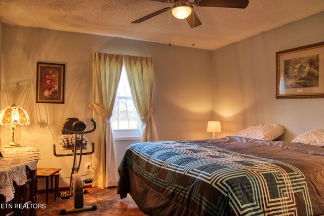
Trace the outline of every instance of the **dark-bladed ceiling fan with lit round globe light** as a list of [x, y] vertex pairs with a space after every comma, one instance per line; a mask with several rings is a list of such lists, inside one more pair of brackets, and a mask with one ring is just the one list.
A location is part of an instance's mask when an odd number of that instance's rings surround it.
[[171, 11], [172, 15], [178, 19], [186, 19], [191, 28], [201, 25], [201, 22], [193, 11], [193, 6], [197, 7], [220, 7], [220, 8], [246, 8], [249, 5], [249, 0], [149, 0], [161, 3], [174, 4], [172, 7], [164, 8], [146, 15], [132, 23], [141, 23], [156, 15]]

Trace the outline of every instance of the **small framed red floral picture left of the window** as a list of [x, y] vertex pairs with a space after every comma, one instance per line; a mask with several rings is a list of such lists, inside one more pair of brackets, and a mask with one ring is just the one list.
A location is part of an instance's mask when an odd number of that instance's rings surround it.
[[64, 104], [65, 64], [37, 62], [36, 103]]

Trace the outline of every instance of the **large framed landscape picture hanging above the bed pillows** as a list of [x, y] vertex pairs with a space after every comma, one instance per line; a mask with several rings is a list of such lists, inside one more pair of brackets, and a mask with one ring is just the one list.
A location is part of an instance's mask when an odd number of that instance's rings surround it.
[[276, 99], [324, 98], [324, 42], [276, 52]]

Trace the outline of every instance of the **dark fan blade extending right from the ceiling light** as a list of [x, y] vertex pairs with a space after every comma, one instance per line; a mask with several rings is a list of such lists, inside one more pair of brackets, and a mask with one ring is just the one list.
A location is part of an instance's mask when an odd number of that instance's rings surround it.
[[249, 0], [195, 0], [195, 6], [220, 8], [246, 8]]

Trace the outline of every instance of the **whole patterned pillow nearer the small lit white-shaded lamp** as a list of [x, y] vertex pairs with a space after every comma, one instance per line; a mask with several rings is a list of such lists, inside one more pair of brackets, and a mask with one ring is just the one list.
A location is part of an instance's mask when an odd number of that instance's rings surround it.
[[236, 132], [235, 136], [256, 140], [272, 141], [285, 133], [285, 127], [280, 124], [259, 124], [249, 126]]

